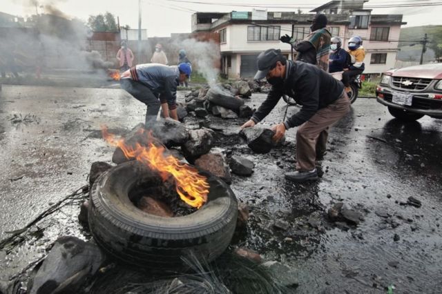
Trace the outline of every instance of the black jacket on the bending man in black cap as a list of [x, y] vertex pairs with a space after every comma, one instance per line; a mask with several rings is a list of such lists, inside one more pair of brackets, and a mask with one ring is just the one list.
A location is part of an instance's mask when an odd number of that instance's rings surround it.
[[300, 61], [287, 61], [283, 83], [271, 87], [267, 99], [251, 119], [256, 123], [264, 119], [285, 94], [293, 97], [296, 103], [302, 106], [300, 111], [284, 122], [285, 128], [300, 126], [319, 109], [336, 101], [343, 92], [344, 85], [317, 66]]

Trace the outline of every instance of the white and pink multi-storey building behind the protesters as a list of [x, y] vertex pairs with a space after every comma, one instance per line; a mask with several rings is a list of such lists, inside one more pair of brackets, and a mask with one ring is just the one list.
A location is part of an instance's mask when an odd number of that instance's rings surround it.
[[[361, 37], [366, 51], [365, 74], [379, 74], [394, 68], [402, 14], [372, 14], [363, 9], [368, 0], [330, 1], [311, 12], [325, 13], [333, 37], [345, 45], [354, 35]], [[279, 41], [281, 35], [304, 39], [310, 32], [314, 14], [296, 12], [229, 13], [196, 12], [192, 15], [192, 32], [218, 32], [220, 35], [221, 72], [229, 78], [252, 77], [256, 57], [269, 48], [277, 48], [291, 59], [291, 46]], [[293, 32], [293, 34], [292, 34]]]

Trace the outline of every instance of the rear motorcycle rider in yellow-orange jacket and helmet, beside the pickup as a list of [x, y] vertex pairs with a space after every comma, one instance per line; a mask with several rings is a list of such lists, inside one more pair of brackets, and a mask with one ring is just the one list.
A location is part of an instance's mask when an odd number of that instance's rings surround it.
[[349, 39], [347, 52], [352, 57], [352, 63], [350, 64], [348, 70], [343, 72], [343, 83], [345, 86], [345, 91], [349, 92], [351, 90], [350, 80], [352, 77], [361, 75], [365, 70], [365, 50], [362, 46], [361, 37], [354, 36]]

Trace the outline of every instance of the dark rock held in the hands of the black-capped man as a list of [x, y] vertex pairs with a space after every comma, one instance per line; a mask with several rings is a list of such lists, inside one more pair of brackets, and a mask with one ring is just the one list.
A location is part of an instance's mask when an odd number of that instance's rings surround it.
[[275, 133], [269, 128], [244, 128], [240, 135], [247, 140], [247, 146], [256, 153], [269, 153], [271, 150], [271, 138]]

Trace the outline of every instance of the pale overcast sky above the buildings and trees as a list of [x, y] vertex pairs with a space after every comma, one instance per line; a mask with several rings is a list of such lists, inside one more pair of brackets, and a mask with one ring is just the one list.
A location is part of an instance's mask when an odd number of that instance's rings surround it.
[[[0, 11], [23, 17], [35, 14], [35, 3], [39, 13], [51, 4], [70, 17], [87, 21], [90, 14], [106, 11], [119, 17], [120, 25], [138, 28], [138, 0], [0, 0]], [[202, 2], [202, 3], [189, 3]], [[194, 12], [251, 11], [253, 8], [267, 8], [268, 11], [309, 10], [327, 3], [327, 0], [142, 0], [142, 28], [148, 30], [148, 37], [169, 37], [172, 32], [191, 32], [191, 15]], [[205, 3], [212, 3], [211, 5]], [[399, 7], [412, 3], [439, 3], [438, 6]], [[236, 6], [236, 5], [245, 6]], [[273, 7], [269, 7], [273, 6]], [[370, 0], [369, 6], [397, 6], [395, 8], [372, 8], [372, 14], [403, 14], [406, 26], [442, 24], [441, 0]]]

